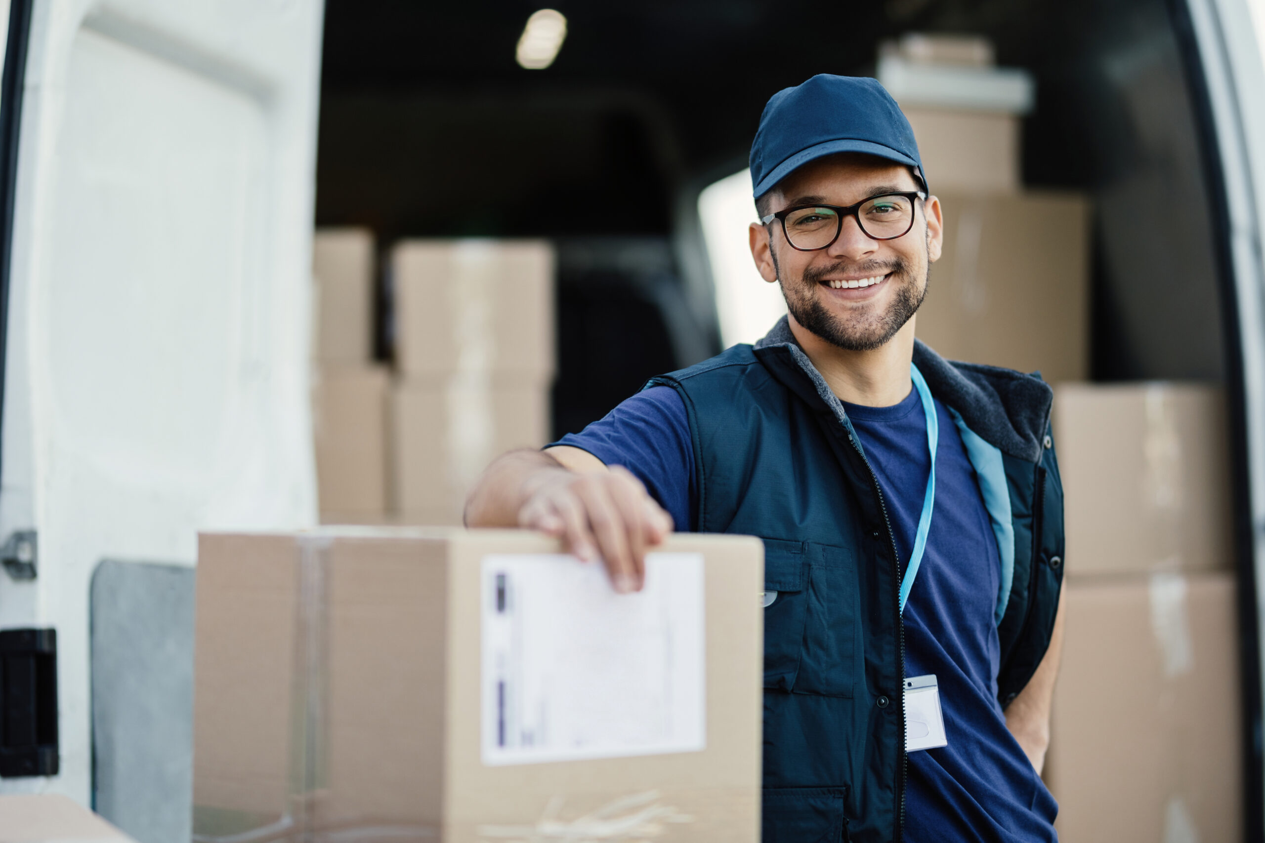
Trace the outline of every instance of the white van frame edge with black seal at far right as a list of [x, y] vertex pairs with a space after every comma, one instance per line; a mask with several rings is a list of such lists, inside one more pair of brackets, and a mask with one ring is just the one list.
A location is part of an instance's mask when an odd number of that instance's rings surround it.
[[1214, 225], [1227, 302], [1227, 396], [1235, 420], [1240, 646], [1245, 733], [1245, 839], [1265, 839], [1265, 5], [1188, 0], [1179, 8], [1202, 95]]

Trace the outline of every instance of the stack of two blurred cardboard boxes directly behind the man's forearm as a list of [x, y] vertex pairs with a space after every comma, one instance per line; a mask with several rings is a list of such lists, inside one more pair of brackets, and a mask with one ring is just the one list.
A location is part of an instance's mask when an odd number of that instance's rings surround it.
[[544, 241], [410, 240], [391, 254], [392, 503], [459, 525], [498, 454], [549, 440], [554, 254]]

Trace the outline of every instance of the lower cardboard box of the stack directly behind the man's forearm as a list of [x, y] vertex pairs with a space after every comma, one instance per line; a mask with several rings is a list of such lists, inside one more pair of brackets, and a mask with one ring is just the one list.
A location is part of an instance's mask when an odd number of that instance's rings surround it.
[[460, 525], [493, 459], [549, 441], [549, 387], [531, 378], [453, 375], [396, 384], [392, 511], [402, 523]]

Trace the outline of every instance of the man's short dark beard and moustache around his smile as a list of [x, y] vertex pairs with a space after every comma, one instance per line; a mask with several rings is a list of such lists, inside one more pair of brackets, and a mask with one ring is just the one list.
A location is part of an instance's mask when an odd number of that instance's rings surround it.
[[927, 284], [923, 283], [920, 288], [915, 283], [912, 270], [904, 260], [896, 259], [885, 264], [878, 262], [858, 264], [848, 268], [848, 274], [865, 273], [869, 277], [887, 274], [888, 278], [883, 283], [897, 284], [897, 289], [887, 311], [859, 315], [851, 322], [846, 322], [831, 313], [822, 303], [820, 286], [826, 276], [842, 274], [846, 262], [840, 260], [830, 267], [806, 269], [803, 277], [792, 284], [787, 284], [777, 263], [777, 255], [773, 255], [773, 265], [778, 270], [778, 278], [782, 278], [782, 297], [794, 320], [845, 351], [873, 351], [883, 346], [896, 336], [897, 331], [904, 327], [906, 322], [913, 318], [918, 307], [922, 306], [922, 300], [927, 297]]

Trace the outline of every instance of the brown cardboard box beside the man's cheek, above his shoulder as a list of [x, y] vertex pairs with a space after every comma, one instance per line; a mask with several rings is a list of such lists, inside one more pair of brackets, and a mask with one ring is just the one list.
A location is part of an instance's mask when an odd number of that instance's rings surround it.
[[944, 207], [944, 253], [931, 265], [918, 339], [949, 359], [1084, 380], [1089, 202], [1073, 193], [932, 190]]

